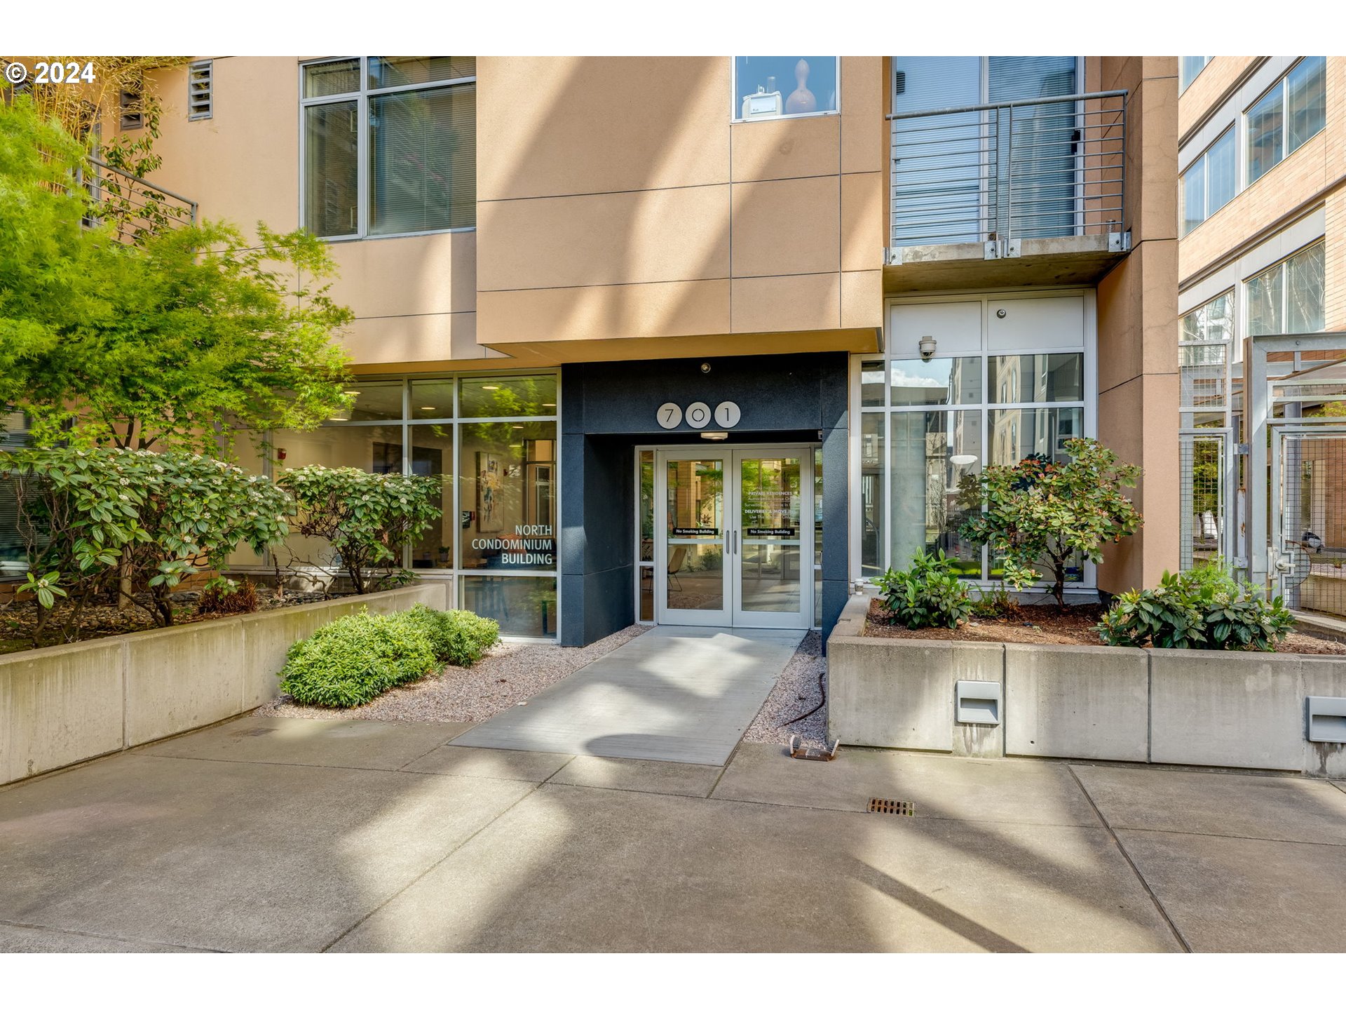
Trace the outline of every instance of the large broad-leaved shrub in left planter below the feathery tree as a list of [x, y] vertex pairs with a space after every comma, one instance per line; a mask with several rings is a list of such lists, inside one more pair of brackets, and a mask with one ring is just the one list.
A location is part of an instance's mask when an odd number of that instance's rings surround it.
[[[105, 593], [171, 625], [171, 594], [187, 575], [242, 543], [262, 551], [288, 532], [284, 492], [191, 452], [26, 448], [0, 454], [0, 470], [15, 485], [39, 606], [50, 611], [58, 597], [71, 605], [61, 636], [67, 641], [78, 636], [79, 610]], [[148, 603], [135, 595], [140, 590]], [[35, 645], [43, 632], [39, 621]]]

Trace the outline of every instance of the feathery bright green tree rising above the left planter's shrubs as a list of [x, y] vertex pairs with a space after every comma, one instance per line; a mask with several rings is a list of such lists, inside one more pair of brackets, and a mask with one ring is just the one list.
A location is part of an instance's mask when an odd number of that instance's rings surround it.
[[349, 404], [324, 242], [209, 222], [128, 240], [74, 184], [90, 171], [27, 97], [0, 105], [0, 413], [24, 411], [36, 444], [218, 454]]

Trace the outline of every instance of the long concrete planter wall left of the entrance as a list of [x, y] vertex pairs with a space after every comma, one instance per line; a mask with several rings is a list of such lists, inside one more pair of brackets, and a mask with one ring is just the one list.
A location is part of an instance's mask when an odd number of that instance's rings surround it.
[[367, 606], [444, 609], [424, 582], [366, 597], [0, 656], [0, 784], [209, 726], [280, 691], [285, 650]]

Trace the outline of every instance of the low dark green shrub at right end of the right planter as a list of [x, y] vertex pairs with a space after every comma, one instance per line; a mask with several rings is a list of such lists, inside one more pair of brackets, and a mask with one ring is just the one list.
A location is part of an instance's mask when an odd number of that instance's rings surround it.
[[1236, 580], [1215, 559], [1164, 572], [1158, 588], [1123, 593], [1098, 624], [1098, 637], [1105, 645], [1273, 652], [1294, 625], [1280, 597], [1267, 599], [1260, 586]]

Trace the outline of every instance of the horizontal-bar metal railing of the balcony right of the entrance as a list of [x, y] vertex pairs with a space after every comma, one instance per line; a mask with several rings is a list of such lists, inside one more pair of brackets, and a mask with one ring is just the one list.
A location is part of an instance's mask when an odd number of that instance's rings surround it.
[[1109, 236], [1110, 249], [1125, 249], [1127, 92], [888, 120], [895, 252], [983, 242], [992, 259], [1018, 256], [1023, 238], [1066, 236]]

